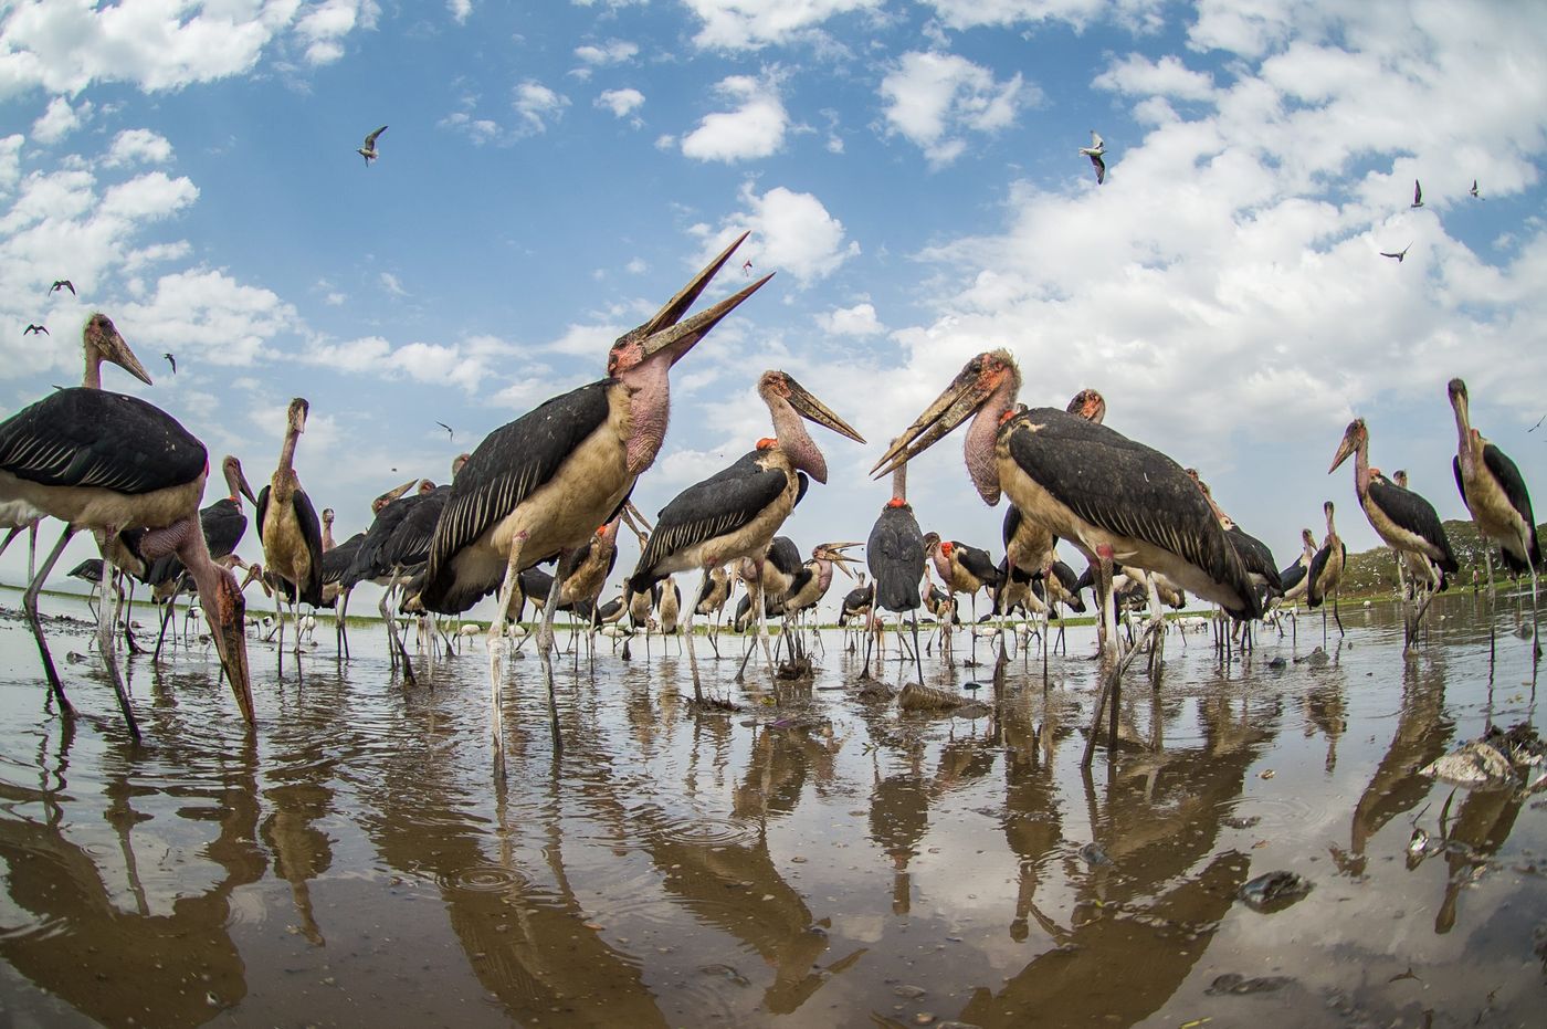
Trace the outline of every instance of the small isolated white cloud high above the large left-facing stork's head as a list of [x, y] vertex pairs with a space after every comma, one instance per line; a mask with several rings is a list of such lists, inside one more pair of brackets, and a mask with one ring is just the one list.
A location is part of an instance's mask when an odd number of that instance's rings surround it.
[[996, 132], [1036, 96], [1019, 73], [995, 82], [993, 73], [958, 54], [903, 54], [880, 84], [888, 127], [917, 144], [930, 164], [944, 166], [965, 150], [965, 132]]

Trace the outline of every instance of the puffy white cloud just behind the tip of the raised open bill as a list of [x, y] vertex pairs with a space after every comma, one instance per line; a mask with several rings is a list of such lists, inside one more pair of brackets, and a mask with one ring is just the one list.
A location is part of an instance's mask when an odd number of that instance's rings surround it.
[[727, 218], [719, 231], [698, 229], [709, 243], [704, 260], [747, 229], [752, 238], [736, 251], [736, 260], [750, 260], [760, 272], [777, 271], [801, 283], [831, 275], [860, 252], [859, 243], [845, 241], [843, 223], [811, 193], [775, 186], [760, 195], [747, 183], [741, 187], [741, 203], [746, 212]]

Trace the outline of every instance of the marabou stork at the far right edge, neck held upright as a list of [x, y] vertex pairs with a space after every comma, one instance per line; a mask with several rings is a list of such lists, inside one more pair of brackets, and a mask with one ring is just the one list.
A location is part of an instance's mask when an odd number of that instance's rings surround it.
[[[1532, 514], [1532, 495], [1525, 478], [1504, 450], [1488, 443], [1471, 427], [1471, 407], [1467, 384], [1451, 379], [1446, 387], [1451, 410], [1456, 413], [1456, 456], [1451, 467], [1456, 472], [1456, 489], [1477, 525], [1477, 532], [1488, 543], [1499, 546], [1499, 557], [1510, 574], [1530, 573], [1532, 577], [1532, 625], [1536, 633], [1536, 566], [1542, 563], [1541, 543], [1536, 540], [1536, 517]], [[1488, 569], [1488, 590], [1493, 590], [1493, 551], [1484, 548]], [[1536, 653], [1541, 653], [1539, 644]]]

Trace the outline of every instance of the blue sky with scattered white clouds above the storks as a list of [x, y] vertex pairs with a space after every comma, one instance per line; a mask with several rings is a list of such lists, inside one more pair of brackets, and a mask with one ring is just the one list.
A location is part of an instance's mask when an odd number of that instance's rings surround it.
[[[1355, 413], [1377, 464], [1463, 515], [1453, 374], [1541, 481], [1544, 150], [1528, 5], [12, 3], [0, 404], [74, 382], [102, 309], [156, 376], [110, 368], [108, 388], [255, 486], [306, 396], [297, 466], [342, 538], [388, 484], [442, 481], [599, 378], [619, 331], [750, 229], [721, 291], [746, 258], [777, 277], [678, 367], [647, 512], [766, 435], [753, 387], [784, 368], [871, 441], [817, 430], [832, 481], [789, 534], [865, 538], [885, 443], [1009, 347], [1023, 401], [1100, 388], [1109, 426], [1199, 467], [1282, 565], [1324, 498], [1375, 543], [1352, 477], [1326, 475]], [[910, 494], [927, 529], [999, 549], [959, 436]]]

